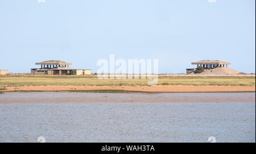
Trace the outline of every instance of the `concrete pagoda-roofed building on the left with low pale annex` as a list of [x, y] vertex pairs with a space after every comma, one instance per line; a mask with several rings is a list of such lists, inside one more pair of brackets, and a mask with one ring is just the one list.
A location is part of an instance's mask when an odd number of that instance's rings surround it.
[[69, 65], [71, 63], [65, 63], [60, 60], [48, 60], [41, 63], [36, 63], [36, 65], [41, 65], [41, 68], [32, 68], [32, 74], [48, 74], [48, 75], [90, 75], [90, 69], [72, 69]]

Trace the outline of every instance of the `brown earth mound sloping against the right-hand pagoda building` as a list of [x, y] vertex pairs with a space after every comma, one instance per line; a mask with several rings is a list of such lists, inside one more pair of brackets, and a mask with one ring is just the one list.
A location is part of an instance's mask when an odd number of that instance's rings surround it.
[[200, 74], [239, 74], [237, 70], [231, 68], [214, 68], [214, 69], [204, 69], [204, 72]]

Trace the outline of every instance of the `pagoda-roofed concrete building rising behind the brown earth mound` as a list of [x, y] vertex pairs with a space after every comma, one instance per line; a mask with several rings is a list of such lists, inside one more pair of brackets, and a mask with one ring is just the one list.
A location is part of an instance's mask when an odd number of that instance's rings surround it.
[[[197, 62], [191, 63], [192, 65], [197, 65], [197, 68], [199, 66], [202, 66], [204, 69], [214, 69], [214, 68], [222, 68], [222, 67], [228, 67], [230, 63], [225, 61], [219, 61], [219, 60], [201, 60]], [[187, 68], [186, 73], [191, 73], [195, 68]]]

